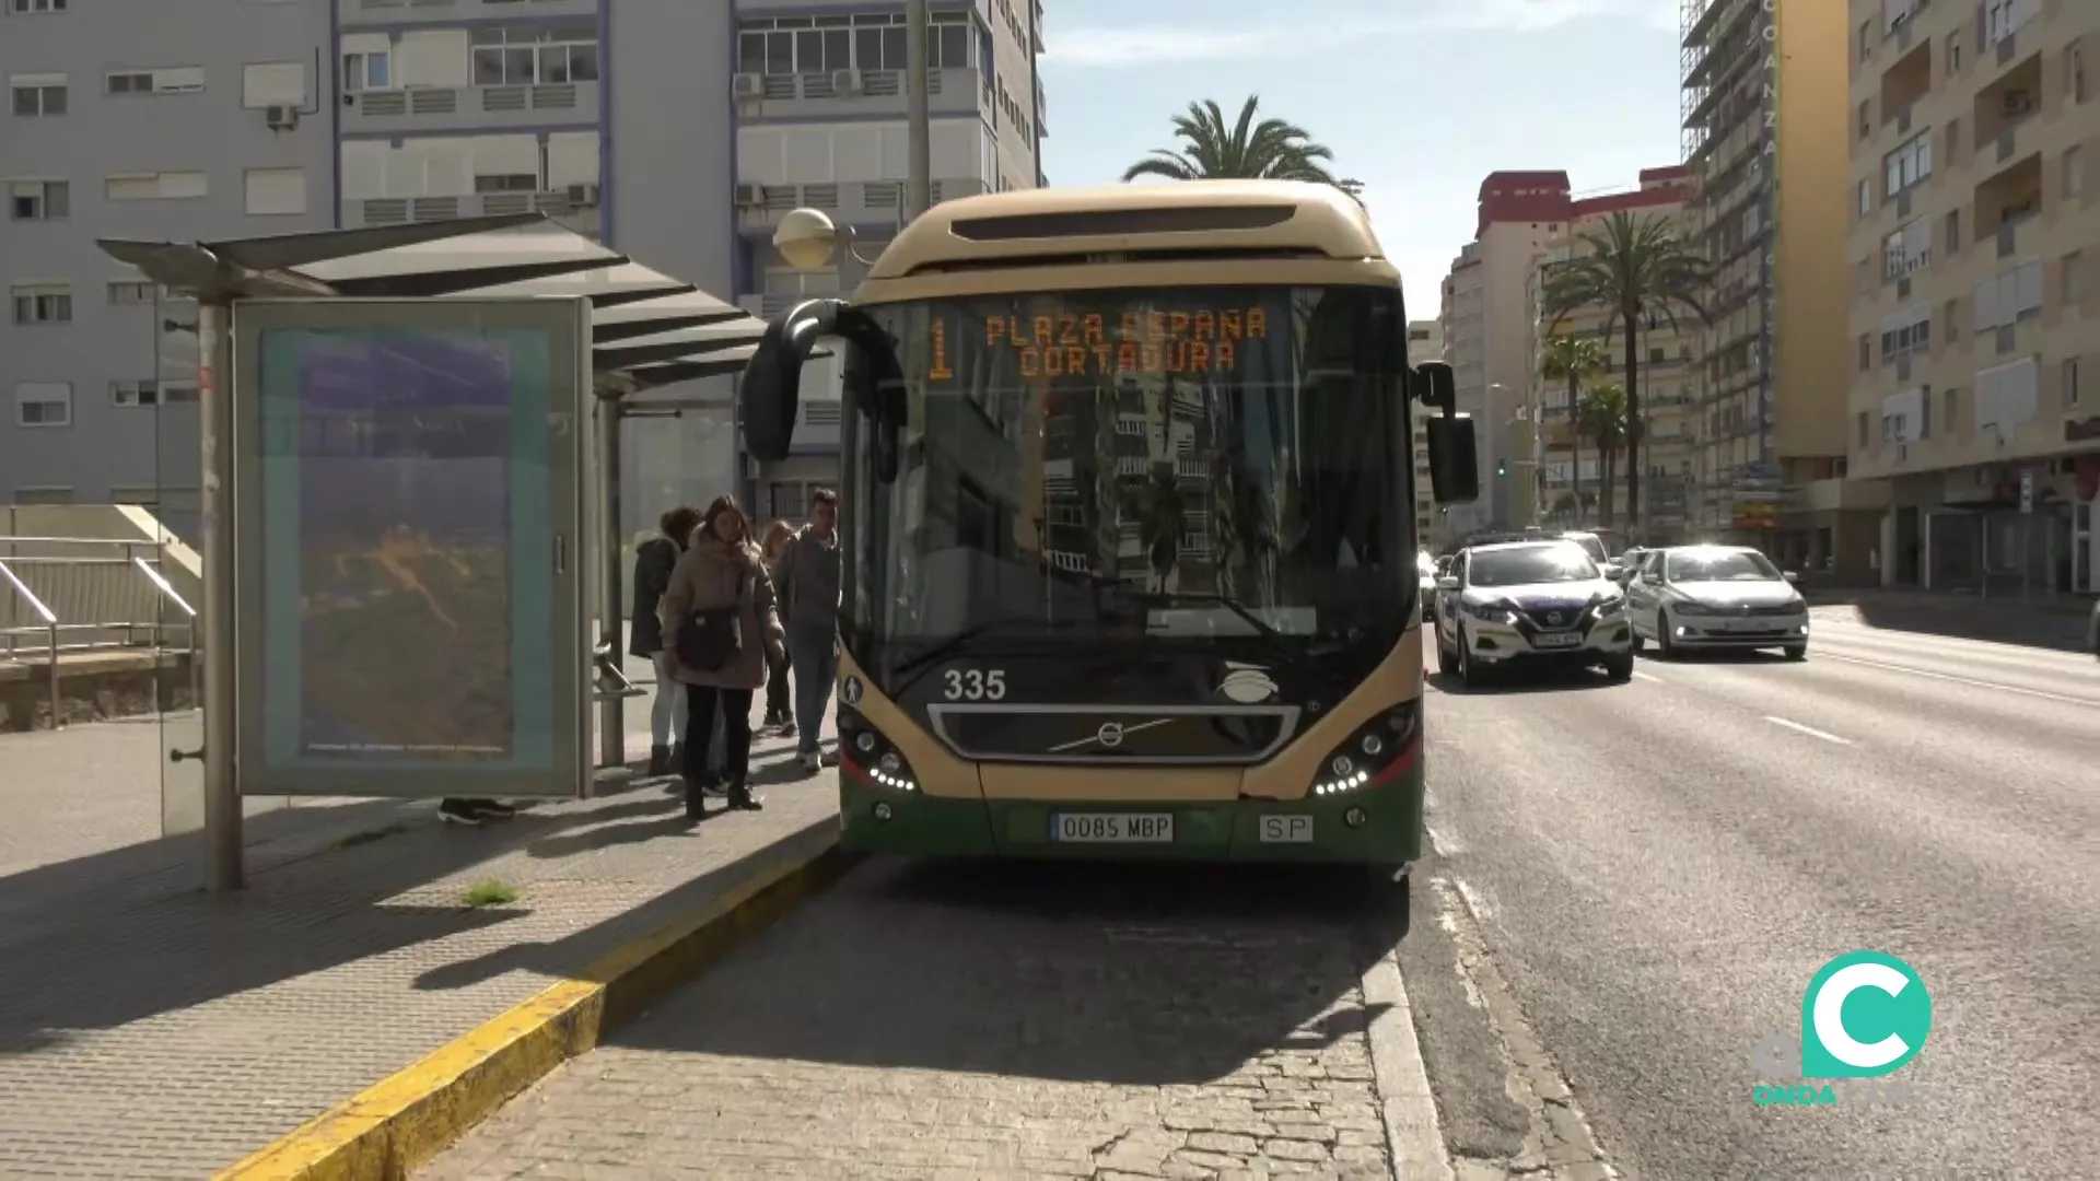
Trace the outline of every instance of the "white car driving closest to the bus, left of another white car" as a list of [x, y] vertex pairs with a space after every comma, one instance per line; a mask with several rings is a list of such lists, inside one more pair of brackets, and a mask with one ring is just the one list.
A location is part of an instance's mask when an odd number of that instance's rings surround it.
[[1485, 668], [1600, 664], [1634, 677], [1625, 595], [1573, 542], [1470, 546], [1438, 582], [1436, 668], [1468, 685]]

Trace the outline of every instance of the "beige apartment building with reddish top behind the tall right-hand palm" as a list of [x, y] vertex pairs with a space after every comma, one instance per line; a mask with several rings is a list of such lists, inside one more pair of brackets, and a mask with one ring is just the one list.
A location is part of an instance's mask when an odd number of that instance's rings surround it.
[[[1690, 168], [1642, 168], [1640, 185], [1615, 193], [1592, 193], [1567, 208], [1562, 233], [1554, 235], [1535, 256], [1527, 305], [1531, 309], [1531, 374], [1527, 380], [1533, 414], [1539, 422], [1539, 481], [1544, 517], [1556, 525], [1623, 523], [1632, 506], [1625, 452], [1613, 464], [1611, 519], [1602, 515], [1602, 456], [1596, 439], [1579, 429], [1579, 403], [1569, 401], [1564, 376], [1548, 376], [1546, 351], [1554, 336], [1596, 340], [1602, 366], [1581, 378], [1583, 389], [1617, 385], [1625, 389], [1625, 326], [1602, 307], [1581, 307], [1556, 315], [1546, 303], [1548, 284], [1558, 267], [1590, 250], [1590, 235], [1600, 233], [1615, 212], [1672, 221], [1690, 237], [1688, 202], [1693, 198]], [[1642, 536], [1667, 542], [1686, 536], [1690, 527], [1693, 452], [1697, 414], [1693, 412], [1697, 317], [1651, 313], [1634, 326], [1634, 349], [1640, 366], [1638, 397], [1644, 422], [1640, 443], [1640, 521]], [[1577, 498], [1579, 494], [1579, 498]]]

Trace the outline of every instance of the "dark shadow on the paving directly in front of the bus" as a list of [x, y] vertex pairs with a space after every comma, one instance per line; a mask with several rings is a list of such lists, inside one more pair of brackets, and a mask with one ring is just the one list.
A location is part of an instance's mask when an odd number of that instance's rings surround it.
[[1208, 866], [859, 866], [685, 992], [628, 1049], [1134, 1086], [1363, 1036], [1405, 908], [1357, 874]]

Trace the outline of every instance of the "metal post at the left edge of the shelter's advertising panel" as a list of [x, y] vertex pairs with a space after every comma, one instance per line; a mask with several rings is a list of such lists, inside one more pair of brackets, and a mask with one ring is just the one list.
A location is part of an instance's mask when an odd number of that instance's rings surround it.
[[233, 305], [197, 305], [200, 509], [204, 519], [204, 841], [206, 885], [227, 893], [246, 885], [242, 780], [235, 708], [239, 693], [233, 590]]

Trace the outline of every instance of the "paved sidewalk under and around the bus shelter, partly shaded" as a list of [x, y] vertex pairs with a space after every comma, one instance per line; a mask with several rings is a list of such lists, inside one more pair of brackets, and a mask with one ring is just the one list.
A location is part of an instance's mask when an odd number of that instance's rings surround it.
[[[628, 750], [647, 754], [647, 698], [630, 708]], [[758, 813], [689, 828], [664, 780], [475, 830], [439, 826], [428, 801], [281, 809], [250, 822], [250, 887], [212, 897], [197, 841], [120, 847], [139, 834], [82, 803], [122, 778], [109, 759], [145, 752], [122, 794], [151, 826], [158, 731], [0, 738], [10, 826], [50, 811], [27, 771], [90, 788], [61, 792], [52, 847], [69, 859], [0, 845], [0, 1177], [212, 1175], [823, 841], [838, 815], [830, 773], [804, 780], [792, 740], [760, 740]], [[517, 899], [468, 906], [489, 878]]]

